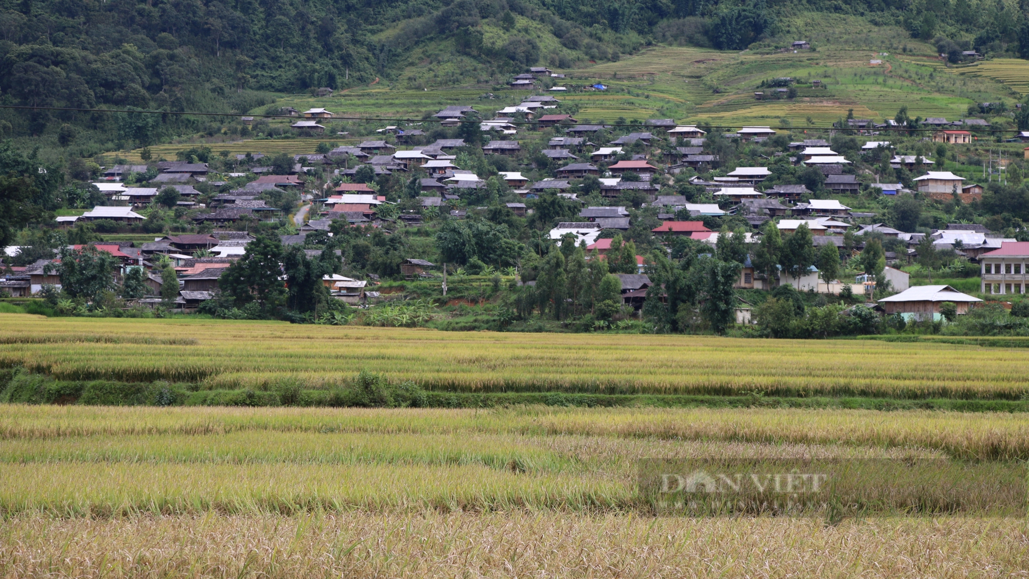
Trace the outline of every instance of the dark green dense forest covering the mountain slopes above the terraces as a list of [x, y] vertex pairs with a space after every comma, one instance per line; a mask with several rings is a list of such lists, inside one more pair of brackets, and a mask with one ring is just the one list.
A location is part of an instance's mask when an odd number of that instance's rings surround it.
[[[1024, 2], [1023, 2], [1024, 4]], [[768, 44], [801, 12], [900, 25], [944, 53], [1029, 53], [1027, 6], [1001, 0], [6, 0], [0, 103], [239, 113], [269, 92], [396, 80], [435, 58], [449, 81], [501, 83], [532, 65], [617, 61], [652, 42], [742, 49]], [[781, 40], [781, 38], [779, 39]], [[1024, 48], [1024, 49], [1023, 49]], [[460, 75], [458, 75], [460, 76]], [[419, 87], [420, 88], [420, 87]], [[147, 144], [196, 120], [0, 112], [0, 137], [77, 133]], [[58, 132], [62, 131], [61, 134]], [[109, 137], [108, 137], [109, 138]], [[90, 157], [94, 151], [78, 151]]]

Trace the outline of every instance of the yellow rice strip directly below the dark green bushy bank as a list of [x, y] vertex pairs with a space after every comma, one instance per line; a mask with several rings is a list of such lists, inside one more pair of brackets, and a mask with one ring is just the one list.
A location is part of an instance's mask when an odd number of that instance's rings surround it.
[[[1029, 421], [1024, 416], [1008, 413], [559, 407], [489, 411], [17, 405], [0, 408], [3, 408], [3, 412], [0, 412], [0, 440], [38, 441], [85, 436], [227, 436], [249, 432], [455, 437], [470, 434], [562, 435], [616, 437], [627, 440], [642, 438], [919, 448], [982, 459], [1029, 457]], [[277, 439], [272, 437], [270, 448], [275, 448], [275, 440]], [[297, 452], [307, 448], [303, 440], [305, 439], [298, 439], [296, 443]], [[474, 446], [476, 443], [472, 440], [467, 444]], [[351, 446], [357, 448], [362, 445]], [[23, 456], [25, 452], [24, 446], [14, 443], [4, 443], [2, 448], [13, 456]], [[36, 450], [56, 451], [47, 448], [50, 447], [40, 445]], [[142, 445], [136, 454], [146, 455], [145, 448]], [[384, 448], [377, 447], [375, 452], [385, 452]], [[427, 448], [431, 448], [431, 445]], [[462, 448], [471, 446], [454, 446], [455, 451]], [[98, 456], [103, 455], [96, 449], [91, 450], [88, 446], [78, 448], [77, 451], [85, 454], [76, 455], [76, 459], [86, 459], [90, 456], [93, 456], [90, 459], [100, 459]], [[115, 452], [115, 455], [127, 452], [122, 449]], [[493, 459], [483, 458], [481, 462], [495, 464]]]

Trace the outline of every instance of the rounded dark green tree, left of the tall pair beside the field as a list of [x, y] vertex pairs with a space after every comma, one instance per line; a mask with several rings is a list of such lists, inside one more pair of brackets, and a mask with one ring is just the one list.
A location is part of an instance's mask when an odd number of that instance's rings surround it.
[[256, 303], [268, 312], [285, 301], [282, 275], [282, 243], [278, 236], [260, 236], [248, 243], [243, 257], [221, 274], [218, 286], [237, 307]]

